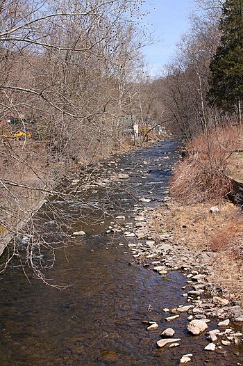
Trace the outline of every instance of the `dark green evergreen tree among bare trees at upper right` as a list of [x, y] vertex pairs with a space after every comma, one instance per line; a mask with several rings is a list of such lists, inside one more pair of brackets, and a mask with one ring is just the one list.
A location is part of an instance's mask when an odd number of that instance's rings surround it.
[[220, 23], [221, 40], [210, 63], [210, 103], [238, 111], [243, 101], [243, 0], [226, 0]]

